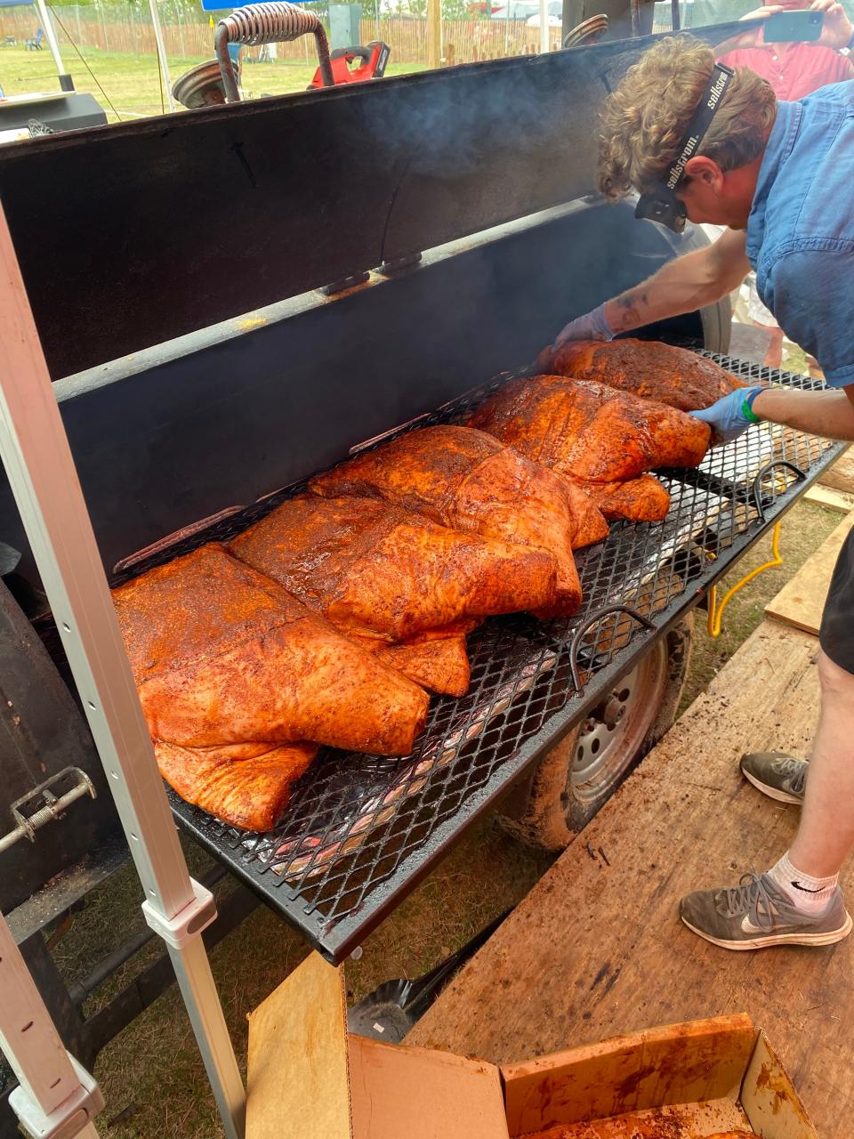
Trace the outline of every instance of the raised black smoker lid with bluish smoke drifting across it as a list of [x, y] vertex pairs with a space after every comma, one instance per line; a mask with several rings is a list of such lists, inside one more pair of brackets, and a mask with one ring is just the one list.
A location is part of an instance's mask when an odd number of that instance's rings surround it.
[[592, 192], [599, 103], [657, 39], [0, 148], [52, 377]]

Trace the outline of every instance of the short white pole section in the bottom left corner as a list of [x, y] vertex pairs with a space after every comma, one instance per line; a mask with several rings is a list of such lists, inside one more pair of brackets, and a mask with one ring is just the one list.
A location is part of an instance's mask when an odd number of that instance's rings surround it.
[[66, 1052], [1, 913], [0, 1047], [20, 1085], [9, 1104], [28, 1134], [52, 1134], [47, 1123], [61, 1122], [63, 1134], [98, 1139], [91, 1120], [104, 1097]]

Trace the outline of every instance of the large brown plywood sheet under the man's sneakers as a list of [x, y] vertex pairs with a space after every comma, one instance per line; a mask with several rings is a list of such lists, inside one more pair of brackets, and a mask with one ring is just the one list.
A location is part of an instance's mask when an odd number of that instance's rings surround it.
[[[678, 917], [789, 845], [797, 810], [738, 770], [805, 754], [819, 707], [807, 633], [764, 622], [416, 1025], [412, 1043], [504, 1064], [650, 1025], [747, 1010], [819, 1134], [854, 1112], [854, 942], [732, 953]], [[607, 859], [607, 861], [606, 861]], [[854, 867], [843, 876], [854, 890]]]

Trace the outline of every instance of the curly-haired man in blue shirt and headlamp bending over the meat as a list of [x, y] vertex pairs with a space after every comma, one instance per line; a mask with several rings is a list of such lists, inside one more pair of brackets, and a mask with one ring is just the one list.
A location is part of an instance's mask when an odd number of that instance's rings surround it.
[[[818, 359], [832, 391], [740, 388], [695, 415], [718, 443], [763, 419], [854, 440], [854, 82], [779, 103], [764, 80], [722, 68], [708, 46], [678, 36], [626, 73], [601, 122], [600, 185], [609, 198], [635, 189], [640, 216], [676, 230], [685, 216], [729, 228], [572, 321], [558, 343], [611, 339], [691, 312], [737, 288], [753, 268], [763, 302]], [[820, 642], [812, 760], [741, 760], [759, 790], [803, 804], [795, 842], [764, 874], [689, 894], [680, 906], [690, 929], [725, 949], [827, 945], [852, 928], [837, 880], [854, 846], [854, 531], [834, 573]]]

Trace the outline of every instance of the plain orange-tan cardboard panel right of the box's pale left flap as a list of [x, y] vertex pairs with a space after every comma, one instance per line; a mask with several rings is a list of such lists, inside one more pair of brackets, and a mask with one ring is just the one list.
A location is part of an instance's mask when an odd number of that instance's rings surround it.
[[350, 1038], [355, 1139], [507, 1139], [493, 1064]]

